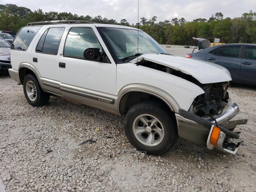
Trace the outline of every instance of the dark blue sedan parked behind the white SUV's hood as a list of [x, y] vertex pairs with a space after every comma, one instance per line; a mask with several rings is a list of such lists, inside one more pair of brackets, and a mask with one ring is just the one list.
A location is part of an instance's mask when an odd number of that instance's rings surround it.
[[256, 44], [223, 44], [196, 53], [186, 58], [204, 60], [227, 68], [233, 82], [256, 84]]

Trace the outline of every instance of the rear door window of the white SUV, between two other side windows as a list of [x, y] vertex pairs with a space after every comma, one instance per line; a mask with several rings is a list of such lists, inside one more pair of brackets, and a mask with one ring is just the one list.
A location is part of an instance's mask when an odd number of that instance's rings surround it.
[[64, 29], [64, 27], [59, 27], [46, 30], [36, 46], [36, 51], [57, 54]]

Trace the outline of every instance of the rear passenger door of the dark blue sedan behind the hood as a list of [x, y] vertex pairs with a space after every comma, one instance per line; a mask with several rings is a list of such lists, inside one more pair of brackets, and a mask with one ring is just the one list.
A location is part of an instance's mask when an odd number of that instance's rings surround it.
[[227, 68], [232, 81], [237, 81], [241, 66], [242, 46], [221, 46], [206, 54], [206, 61]]

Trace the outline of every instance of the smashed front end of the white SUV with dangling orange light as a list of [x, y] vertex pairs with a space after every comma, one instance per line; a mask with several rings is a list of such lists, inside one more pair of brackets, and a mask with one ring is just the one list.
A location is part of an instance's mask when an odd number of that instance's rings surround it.
[[[240, 132], [233, 132], [247, 120], [231, 120], [239, 112], [239, 108], [228, 95], [229, 82], [200, 84], [205, 93], [195, 98], [189, 111], [180, 110], [176, 114], [178, 134], [182, 138], [194, 142], [207, 143], [208, 149], [218, 148], [236, 154], [242, 144]], [[230, 142], [230, 139], [236, 140]]]

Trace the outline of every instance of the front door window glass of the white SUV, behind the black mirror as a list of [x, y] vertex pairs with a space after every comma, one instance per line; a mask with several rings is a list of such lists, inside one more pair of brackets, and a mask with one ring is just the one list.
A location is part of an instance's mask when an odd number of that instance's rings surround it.
[[71, 28], [64, 46], [64, 56], [84, 58], [84, 51], [88, 48], [102, 47], [92, 28]]

